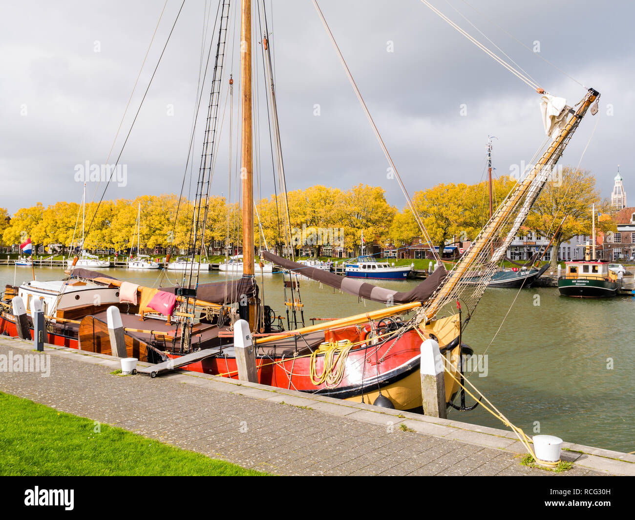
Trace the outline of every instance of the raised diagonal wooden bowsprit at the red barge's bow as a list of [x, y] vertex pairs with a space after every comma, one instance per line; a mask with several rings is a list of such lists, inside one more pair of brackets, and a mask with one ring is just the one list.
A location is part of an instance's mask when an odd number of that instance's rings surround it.
[[450, 271], [450, 275], [448, 275], [443, 285], [439, 288], [439, 292], [436, 296], [434, 296], [434, 299], [432, 299], [429, 306], [427, 306], [427, 309], [425, 309], [426, 319], [431, 319], [432, 316], [436, 315], [436, 313], [441, 309], [443, 304], [445, 304], [446, 297], [450, 296], [451, 291], [457, 286], [461, 278], [463, 278], [465, 273], [472, 268], [472, 263], [478, 259], [479, 255], [483, 252], [483, 249], [485, 249], [486, 244], [491, 238], [495, 237], [496, 233], [500, 231], [511, 212], [518, 207], [521, 200], [523, 200], [523, 197], [528, 194], [533, 181], [538, 175], [538, 172], [542, 171], [543, 167], [545, 167], [552, 157], [558, 152], [560, 146], [565, 143], [569, 134], [577, 126], [576, 123], [584, 117], [587, 108], [591, 106], [591, 103], [595, 101], [598, 96], [598, 92], [593, 89], [589, 89], [589, 93], [587, 93], [584, 100], [580, 102], [578, 110], [570, 117], [566, 126], [560, 131], [558, 137], [552, 141], [551, 145], [542, 155], [536, 166], [533, 167], [530, 174], [519, 182], [516, 190], [512, 192], [511, 196], [507, 198], [507, 200], [505, 200], [505, 202], [498, 208], [495, 216], [485, 225], [485, 228], [481, 231], [482, 237], [479, 237], [477, 242], [472, 244], [472, 247], [467, 250], [466, 254], [459, 261], [457, 266]]

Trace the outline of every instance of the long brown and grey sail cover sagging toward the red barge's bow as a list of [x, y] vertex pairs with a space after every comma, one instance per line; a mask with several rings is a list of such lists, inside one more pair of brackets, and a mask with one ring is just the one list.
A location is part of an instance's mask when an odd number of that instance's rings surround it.
[[336, 275], [335, 273], [328, 273], [318, 268], [304, 266], [297, 262], [292, 262], [281, 256], [274, 255], [268, 251], [264, 251], [262, 256], [265, 259], [273, 262], [276, 265], [281, 266], [284, 269], [295, 271], [302, 276], [307, 276], [312, 280], [326, 283], [335, 289], [340, 289], [342, 292], [347, 292], [353, 296], [359, 296], [372, 301], [380, 303], [410, 303], [410, 302], [424, 302], [431, 294], [436, 290], [439, 285], [445, 280], [448, 275], [448, 271], [441, 265], [438, 270], [434, 271], [417, 287], [408, 292], [398, 292], [396, 290], [384, 289], [378, 285], [372, 283], [363, 282], [359, 278], [347, 278], [346, 276]]

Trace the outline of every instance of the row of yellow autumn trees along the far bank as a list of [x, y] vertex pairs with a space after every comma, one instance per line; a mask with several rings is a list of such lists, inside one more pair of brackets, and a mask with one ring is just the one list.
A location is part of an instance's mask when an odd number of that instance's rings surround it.
[[[514, 186], [515, 181], [501, 177], [493, 181], [493, 208], [496, 209]], [[489, 219], [488, 184], [441, 183], [413, 194], [412, 200], [432, 242], [439, 246], [458, 240], [472, 240]], [[589, 171], [561, 169], [558, 182], [545, 186], [526, 221], [526, 228], [554, 237], [553, 250], [575, 235], [591, 234], [591, 204], [610, 212], [607, 200], [601, 200], [595, 178]], [[86, 204], [84, 229], [88, 232], [85, 249], [124, 250], [136, 247], [137, 212], [140, 207], [140, 245], [144, 248], [169, 247], [187, 249], [192, 240], [194, 215], [198, 210], [192, 201], [177, 195], [144, 195], [134, 199]], [[288, 218], [286, 216], [288, 207]], [[349, 190], [312, 186], [289, 192], [287, 197], [272, 195], [255, 204], [259, 216], [254, 218], [256, 245], [280, 251], [286, 240], [313, 237], [309, 245], [343, 245], [359, 251], [362, 233], [366, 244], [408, 245], [420, 236], [420, 230], [409, 207], [399, 211], [385, 198], [378, 186], [359, 184]], [[81, 244], [82, 207], [76, 202], [57, 202], [44, 207], [18, 210], [11, 217], [0, 208], [0, 237], [4, 244], [16, 244], [26, 235], [34, 244]], [[178, 218], [177, 218], [178, 214]], [[565, 218], [566, 216], [566, 218]], [[565, 218], [556, 232], [556, 219]], [[221, 240], [225, 244], [241, 243], [242, 216], [238, 204], [225, 197], [211, 197], [199, 221], [205, 221], [206, 245]], [[260, 224], [258, 224], [258, 222]], [[289, 227], [285, 223], [290, 223]], [[613, 226], [613, 227], [612, 227]], [[614, 229], [612, 223], [598, 224], [599, 230]], [[285, 233], [285, 230], [286, 233]], [[303, 231], [304, 233], [300, 233]], [[199, 236], [200, 236], [199, 230]], [[318, 233], [319, 231], [319, 233]], [[286, 235], [286, 236], [285, 236]], [[328, 237], [328, 238], [324, 238]], [[335, 237], [339, 244], [328, 244]], [[301, 244], [293, 244], [298, 247]]]

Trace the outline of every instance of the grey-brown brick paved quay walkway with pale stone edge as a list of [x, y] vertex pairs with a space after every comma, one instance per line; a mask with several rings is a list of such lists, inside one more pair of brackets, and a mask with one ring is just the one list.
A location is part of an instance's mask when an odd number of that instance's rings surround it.
[[[29, 342], [0, 338], [0, 354], [30, 349]], [[0, 391], [246, 468], [285, 475], [553, 475], [520, 465], [516, 454], [523, 450], [509, 432], [208, 375], [122, 377], [110, 374], [119, 367], [110, 356], [48, 347], [45, 353], [50, 377], [1, 372]], [[402, 431], [402, 423], [416, 431]], [[601, 455], [563, 452], [577, 461], [566, 474], [635, 469]], [[587, 467], [578, 465], [583, 459]]]

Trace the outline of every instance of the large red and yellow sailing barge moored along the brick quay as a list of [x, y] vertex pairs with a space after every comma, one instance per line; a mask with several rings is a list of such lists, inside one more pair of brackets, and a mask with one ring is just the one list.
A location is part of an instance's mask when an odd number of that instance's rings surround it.
[[[218, 46], [210, 96], [212, 117], [208, 115], [207, 118], [204, 144], [211, 150], [213, 141], [210, 140], [210, 136], [213, 136], [216, 129], [217, 117], [214, 114], [217, 113], [219, 104], [229, 2], [223, 0], [219, 11]], [[321, 11], [319, 14], [321, 15]], [[322, 19], [328, 29], [326, 20]], [[331, 34], [330, 30], [328, 32]], [[594, 89], [588, 89], [575, 108], [563, 107], [556, 111], [554, 119], [558, 121], [556, 127], [550, 129], [552, 140], [547, 145], [547, 150], [541, 155], [542, 147], [538, 150], [538, 160], [530, 162], [534, 166], [525, 173], [493, 212], [464, 256], [451, 271], [448, 272], [440, 266], [429, 278], [408, 292], [388, 290], [361, 280], [343, 278], [267, 251], [263, 252], [264, 259], [282, 266], [288, 273], [309, 276], [341, 292], [380, 302], [386, 306], [347, 318], [324, 320], [317, 325], [305, 326], [303, 323], [296, 328], [290, 326], [285, 330], [281, 323], [282, 318], [260, 299], [254, 269], [250, 0], [242, 0], [240, 38], [243, 276], [221, 282], [198, 283], [192, 265], [189, 268], [189, 280], [185, 280], [184, 276], [184, 283], [177, 287], [135, 287], [131, 294], [127, 290], [130, 287], [124, 287], [126, 282], [95, 271], [75, 268], [70, 273], [70, 282], [60, 282], [62, 287], [57, 288], [60, 290], [60, 298], [50, 307], [48, 314], [52, 316], [50, 324], [55, 332], [51, 332], [51, 328], [48, 329], [49, 341], [51, 334], [69, 340], [74, 337], [74, 342], [69, 341], [70, 346], [78, 346], [86, 351], [110, 353], [106, 325], [107, 306], [104, 302], [109, 298], [111, 301], [118, 298], [116, 305], [122, 312], [128, 355], [142, 361], [159, 363], [166, 370], [170, 370], [170, 367], [182, 367], [236, 379], [238, 370], [232, 325], [237, 320], [244, 320], [255, 339], [258, 382], [311, 394], [358, 402], [383, 403], [401, 410], [410, 410], [422, 405], [418, 373], [420, 345], [422, 341], [432, 339], [438, 342], [441, 352], [448, 359], [449, 368], [445, 374], [446, 403], [448, 406], [457, 407], [453, 404], [453, 398], [459, 390], [457, 377], [462, 375], [464, 355], [471, 353], [471, 349], [462, 344], [462, 333], [471, 320], [490, 278], [497, 271], [500, 259], [547, 182], [550, 168], [560, 159], [587, 109], [592, 103], [596, 103], [594, 106], [597, 106], [599, 93]], [[271, 57], [265, 38], [262, 49], [267, 60], [266, 71], [271, 70]], [[340, 58], [344, 62], [341, 53]], [[272, 98], [275, 100], [271, 75], [269, 79]], [[354, 88], [361, 99], [358, 89], [356, 86]], [[545, 94], [540, 90], [538, 93]], [[549, 98], [545, 100], [545, 103], [550, 102]], [[368, 119], [372, 122], [368, 109], [365, 109]], [[275, 103], [271, 110], [275, 110]], [[273, 122], [279, 148], [277, 115]], [[372, 124], [374, 127], [374, 123]], [[375, 131], [378, 135], [376, 127]], [[386, 150], [385, 153], [388, 155]], [[207, 186], [206, 179], [209, 178], [211, 153], [203, 153], [201, 162], [202, 181], [198, 183], [201, 189], [197, 192], [196, 202], [204, 207], [206, 192], [203, 186]], [[391, 159], [390, 162], [392, 164]], [[401, 179], [398, 179], [401, 183]], [[199, 216], [200, 214], [201, 212]], [[198, 229], [199, 227], [195, 226], [194, 244], [198, 241], [202, 244], [204, 240], [204, 231], [199, 236]], [[428, 244], [432, 245], [425, 228], [422, 228], [422, 231]], [[194, 250], [196, 249], [192, 249]], [[194, 252], [192, 262], [193, 258]], [[74, 266], [76, 263], [77, 259], [74, 259]], [[466, 278], [469, 278], [470, 273], [479, 270], [483, 273], [479, 282], [469, 283]], [[284, 287], [289, 287], [293, 291], [297, 286], [293, 280], [285, 279]], [[52, 289], [55, 288], [51, 287]], [[69, 306], [69, 301], [74, 297], [81, 298], [84, 293], [90, 296], [91, 292], [97, 291], [104, 292], [104, 300], [98, 308], [94, 308], [94, 304], [93, 308], [86, 304], [83, 313], [80, 313]], [[26, 284], [20, 286], [18, 292], [23, 299], [37, 297], [34, 288]], [[124, 292], [128, 292], [128, 301], [121, 300]], [[291, 298], [284, 302], [288, 310], [287, 315], [290, 312], [295, 315], [296, 311], [302, 313], [304, 304], [294, 296], [295, 294], [292, 292]], [[53, 296], [51, 301], [52, 299]], [[157, 311], [157, 306], [153, 305], [156, 299], [168, 299], [171, 302], [170, 309]], [[461, 310], [462, 306], [466, 308], [465, 314]], [[15, 316], [11, 316], [6, 307], [5, 304], [0, 332], [6, 330], [9, 334], [15, 334]], [[296, 320], [293, 323], [297, 325]], [[291, 320], [288, 320], [288, 325], [291, 325]], [[157, 375], [158, 372], [157, 368], [147, 373]], [[466, 408], [462, 406], [458, 409]]]

